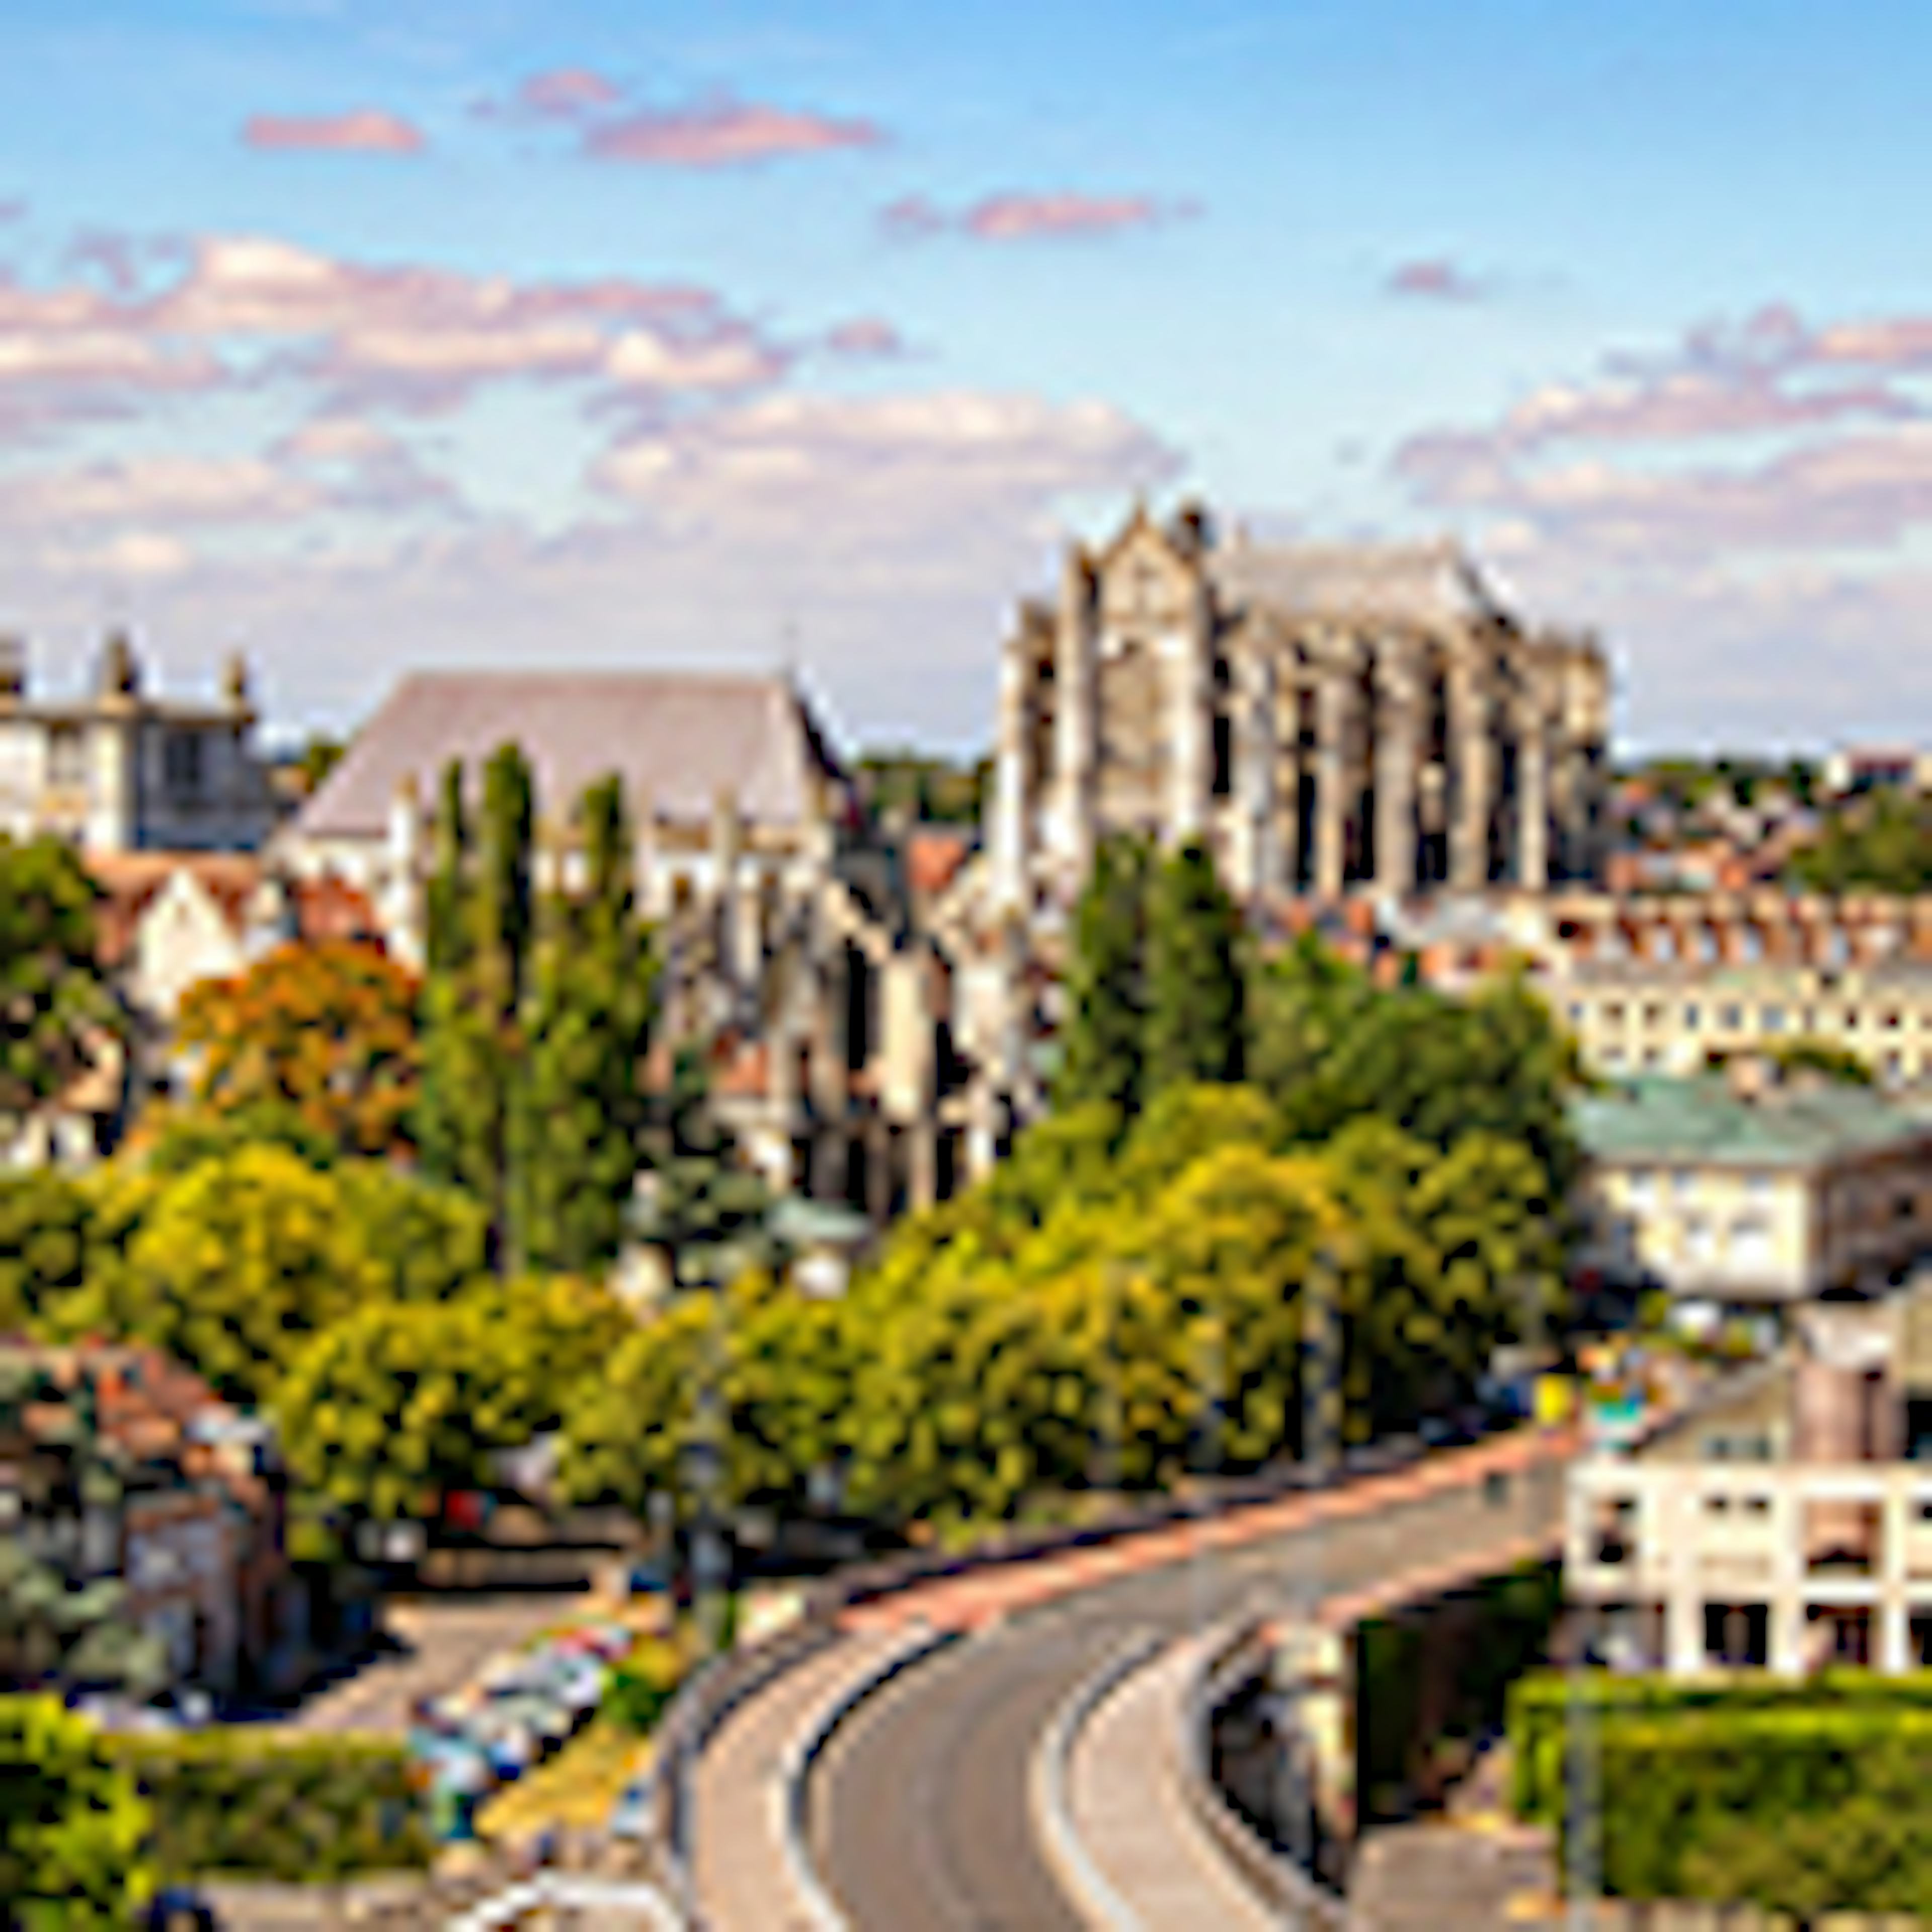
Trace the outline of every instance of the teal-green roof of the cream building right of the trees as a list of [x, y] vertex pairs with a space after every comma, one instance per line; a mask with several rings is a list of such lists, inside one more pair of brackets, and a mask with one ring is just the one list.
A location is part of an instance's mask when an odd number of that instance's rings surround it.
[[1924, 1113], [1872, 1088], [1799, 1080], [1754, 1097], [1721, 1074], [1646, 1074], [1571, 1105], [1577, 1138], [1596, 1161], [1708, 1161], [1723, 1167], [1822, 1167], [1932, 1134]]

